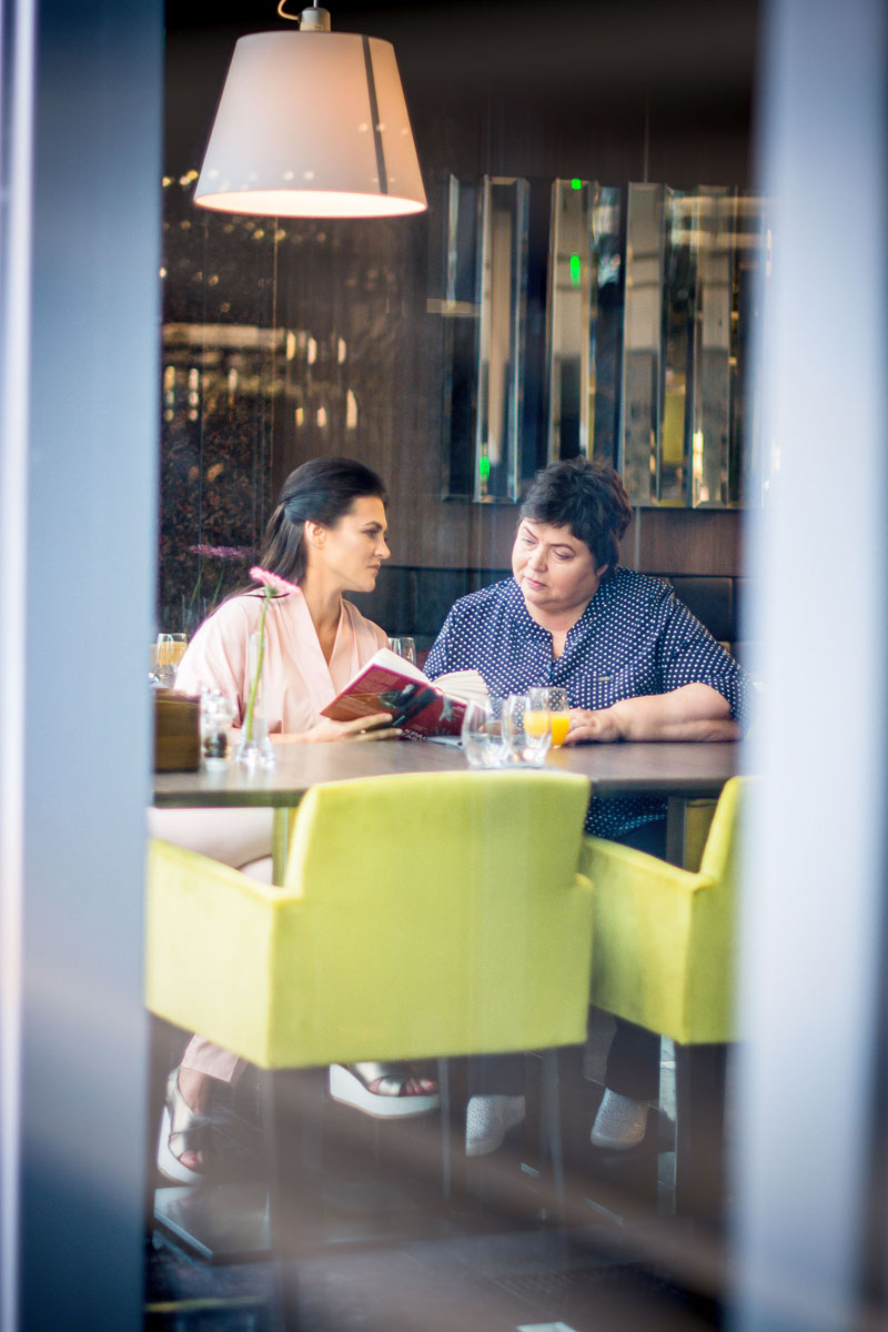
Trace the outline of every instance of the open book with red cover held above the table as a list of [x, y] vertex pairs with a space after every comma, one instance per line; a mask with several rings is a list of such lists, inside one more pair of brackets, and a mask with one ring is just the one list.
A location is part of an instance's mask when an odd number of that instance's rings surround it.
[[466, 703], [485, 698], [487, 686], [477, 670], [450, 671], [433, 685], [411, 662], [381, 647], [321, 711], [337, 722], [391, 713], [391, 725], [410, 735], [459, 735]]

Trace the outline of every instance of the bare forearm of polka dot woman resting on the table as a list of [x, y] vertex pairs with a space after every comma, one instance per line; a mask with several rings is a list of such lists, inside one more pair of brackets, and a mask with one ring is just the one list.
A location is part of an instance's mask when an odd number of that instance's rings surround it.
[[734, 741], [728, 701], [708, 685], [684, 685], [668, 694], [623, 698], [611, 707], [571, 709], [566, 743], [583, 741]]

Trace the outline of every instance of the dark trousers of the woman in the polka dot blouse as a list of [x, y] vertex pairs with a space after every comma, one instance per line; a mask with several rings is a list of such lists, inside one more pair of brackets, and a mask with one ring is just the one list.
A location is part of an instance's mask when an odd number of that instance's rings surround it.
[[[622, 836], [620, 846], [666, 856], [666, 819], [643, 823]], [[634, 1022], [614, 1019], [616, 1030], [607, 1055], [604, 1086], [634, 1100], [654, 1100], [660, 1084], [660, 1038]], [[469, 1060], [471, 1095], [521, 1096], [525, 1090], [523, 1055], [479, 1055]]]

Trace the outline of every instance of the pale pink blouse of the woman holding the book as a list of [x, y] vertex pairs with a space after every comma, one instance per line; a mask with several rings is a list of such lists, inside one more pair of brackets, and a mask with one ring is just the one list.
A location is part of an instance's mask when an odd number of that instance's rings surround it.
[[[250, 690], [246, 643], [260, 626], [261, 610], [261, 591], [222, 602], [188, 645], [176, 674], [176, 687], [186, 694], [218, 689], [237, 698], [238, 719], [242, 721]], [[269, 731], [308, 731], [318, 722], [321, 709], [385, 646], [386, 635], [379, 626], [343, 601], [328, 666], [302, 593], [276, 597], [265, 617], [262, 665]]]

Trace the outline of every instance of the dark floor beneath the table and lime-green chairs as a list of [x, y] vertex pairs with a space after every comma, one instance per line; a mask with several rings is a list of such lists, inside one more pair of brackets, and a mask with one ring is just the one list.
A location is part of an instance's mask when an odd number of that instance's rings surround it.
[[[602, 1095], [607, 1031], [558, 1060], [563, 1188], [537, 1107], [542, 1063], [529, 1058], [531, 1114], [501, 1151], [461, 1152], [462, 1066], [453, 1062], [451, 1173], [446, 1196], [441, 1116], [379, 1124], [332, 1103], [324, 1074], [290, 1075], [289, 1144], [274, 1162], [258, 1131], [261, 1084], [228, 1103], [213, 1188], [160, 1193], [173, 1223], [226, 1217], [233, 1255], [200, 1256], [156, 1225], [146, 1245], [149, 1332], [696, 1332], [722, 1325], [718, 1236], [668, 1213], [674, 1158], [667, 1116], [651, 1114], [646, 1143], [627, 1158], [588, 1146]], [[599, 1052], [596, 1054], [596, 1044]], [[671, 1096], [664, 1046], [664, 1104]], [[549, 1086], [549, 1084], [547, 1084]], [[280, 1087], [280, 1084], [278, 1084]], [[281, 1126], [278, 1099], [278, 1127]], [[276, 1135], [276, 1140], [281, 1132]], [[268, 1180], [280, 1199], [276, 1259], [250, 1253], [265, 1232]], [[274, 1193], [273, 1207], [278, 1200]], [[232, 1217], [234, 1225], [232, 1227]], [[240, 1227], [240, 1229], [238, 1229]], [[218, 1233], [218, 1232], [217, 1232]], [[294, 1256], [298, 1255], [298, 1256]]]

